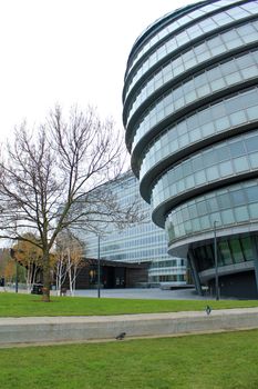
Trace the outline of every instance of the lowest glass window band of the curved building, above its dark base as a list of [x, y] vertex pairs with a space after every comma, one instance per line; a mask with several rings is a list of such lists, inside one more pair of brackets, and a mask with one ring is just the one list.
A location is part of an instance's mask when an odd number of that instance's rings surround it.
[[[257, 208], [258, 180], [249, 180], [198, 196], [176, 207], [167, 216], [165, 228], [173, 243], [177, 239], [214, 230], [215, 221], [218, 228], [258, 222]], [[239, 260], [236, 253], [236, 261]]]

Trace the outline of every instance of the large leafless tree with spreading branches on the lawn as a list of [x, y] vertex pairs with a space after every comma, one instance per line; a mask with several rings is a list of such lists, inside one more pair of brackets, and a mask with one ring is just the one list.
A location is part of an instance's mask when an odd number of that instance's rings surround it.
[[42, 250], [43, 301], [50, 301], [50, 253], [56, 236], [70, 226], [96, 231], [97, 226], [123, 226], [138, 218], [137, 205], [121, 208], [103, 183], [118, 179], [125, 149], [111, 120], [95, 110], [71, 109], [65, 119], [60, 107], [44, 124], [29, 131], [16, 129], [0, 160], [0, 238], [27, 240]]

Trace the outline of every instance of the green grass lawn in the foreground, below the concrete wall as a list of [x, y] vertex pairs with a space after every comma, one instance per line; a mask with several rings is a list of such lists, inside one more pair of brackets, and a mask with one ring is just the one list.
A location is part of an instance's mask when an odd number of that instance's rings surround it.
[[4, 389], [257, 389], [258, 330], [0, 350]]

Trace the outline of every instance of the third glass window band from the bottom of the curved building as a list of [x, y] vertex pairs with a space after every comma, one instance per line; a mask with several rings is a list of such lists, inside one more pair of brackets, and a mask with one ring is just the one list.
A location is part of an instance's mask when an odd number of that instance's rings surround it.
[[[190, 144], [220, 132], [234, 131], [242, 123], [252, 121], [258, 121], [257, 88], [240, 92], [205, 110], [195, 112], [175, 126], [168, 127], [148, 144], [148, 148], [143, 153], [142, 163], [140, 161], [140, 180], [163, 159], [176, 154]], [[251, 139], [247, 138], [245, 142], [247, 152], [252, 153], [252, 151], [257, 151], [257, 146]], [[217, 150], [217, 159], [223, 167], [223, 177], [230, 173], [230, 166], [226, 162], [226, 147]], [[256, 168], [255, 157], [250, 157], [250, 159], [251, 167]], [[194, 163], [197, 162], [198, 160]]]

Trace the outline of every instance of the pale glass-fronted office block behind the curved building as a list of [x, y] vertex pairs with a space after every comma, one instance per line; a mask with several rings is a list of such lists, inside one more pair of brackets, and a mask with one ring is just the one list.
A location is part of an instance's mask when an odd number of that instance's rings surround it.
[[[173, 258], [167, 253], [167, 239], [165, 231], [156, 227], [151, 220], [149, 206], [143, 201], [138, 193], [138, 181], [132, 172], [125, 173], [122, 179], [107, 182], [112, 186], [112, 192], [117, 197], [122, 207], [132, 205], [137, 199], [141, 212], [146, 213], [143, 222], [127, 226], [124, 229], [110, 225], [105, 235], [100, 237], [100, 258], [105, 261], [117, 261], [131, 265], [148, 263], [148, 275], [138, 286], [183, 286], [186, 283], [186, 261]], [[86, 258], [97, 258], [99, 238], [94, 233], [81, 233], [78, 236], [85, 243]], [[133, 268], [133, 267], [132, 267]], [[135, 267], [135, 273], [140, 273], [141, 266]], [[132, 270], [131, 270], [132, 272]], [[121, 287], [117, 276], [114, 287]], [[102, 280], [102, 283], [105, 280]], [[134, 286], [136, 281], [134, 281]]]

